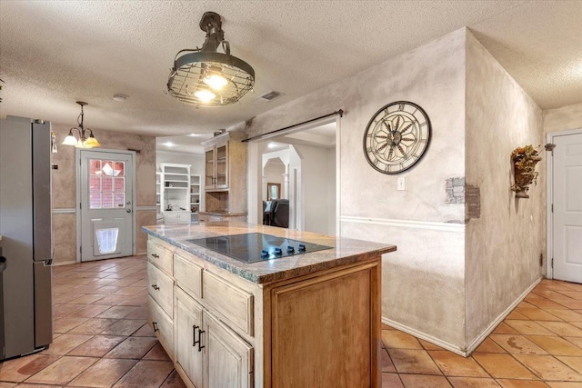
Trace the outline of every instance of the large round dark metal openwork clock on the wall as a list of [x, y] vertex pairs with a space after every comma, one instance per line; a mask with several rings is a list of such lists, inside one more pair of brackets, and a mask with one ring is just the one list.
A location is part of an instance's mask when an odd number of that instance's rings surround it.
[[418, 162], [428, 147], [430, 121], [417, 104], [397, 101], [376, 112], [364, 133], [367, 162], [383, 174], [399, 174]]

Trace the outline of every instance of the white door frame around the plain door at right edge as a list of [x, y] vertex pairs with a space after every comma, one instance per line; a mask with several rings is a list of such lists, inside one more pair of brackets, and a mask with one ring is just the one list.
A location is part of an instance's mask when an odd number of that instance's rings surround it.
[[[566, 136], [568, 134], [582, 134], [582, 128], [568, 129], [565, 131], [556, 131], [546, 134], [548, 144], [554, 143], [554, 137]], [[546, 277], [554, 279], [554, 213], [552, 205], [554, 204], [554, 152], [546, 158]]]

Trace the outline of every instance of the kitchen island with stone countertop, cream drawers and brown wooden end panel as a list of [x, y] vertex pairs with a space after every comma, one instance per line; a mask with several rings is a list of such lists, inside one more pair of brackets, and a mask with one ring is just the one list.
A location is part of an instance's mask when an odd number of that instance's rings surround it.
[[[237, 222], [143, 229], [148, 322], [187, 386], [379, 386], [381, 255], [396, 246]], [[220, 237], [242, 234], [304, 244], [243, 263]], [[213, 237], [223, 253], [200, 245]]]

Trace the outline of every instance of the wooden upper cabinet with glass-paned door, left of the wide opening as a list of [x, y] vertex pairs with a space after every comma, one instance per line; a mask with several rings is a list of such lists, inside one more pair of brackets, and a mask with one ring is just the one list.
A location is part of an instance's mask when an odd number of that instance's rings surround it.
[[221, 221], [226, 217], [246, 218], [245, 134], [226, 132], [202, 143], [205, 147], [206, 212], [199, 220]]

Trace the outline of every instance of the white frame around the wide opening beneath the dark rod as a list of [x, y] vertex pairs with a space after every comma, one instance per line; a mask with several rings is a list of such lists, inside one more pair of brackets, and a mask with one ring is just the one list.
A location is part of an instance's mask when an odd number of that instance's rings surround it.
[[[285, 136], [286, 134], [294, 134], [296, 132], [306, 131], [308, 129], [316, 128], [317, 126], [321, 126], [324, 124], [336, 124], [336, 235], [341, 236], [341, 123], [342, 123], [342, 116], [335, 115], [332, 117], [325, 117], [308, 124], [297, 125], [292, 128], [287, 129], [286, 131], [276, 132], [276, 134], [266, 134], [265, 136], [261, 137], [260, 139], [252, 140], [248, 142], [247, 145], [247, 152], [248, 158], [246, 162], [247, 166], [247, 179], [248, 185], [247, 187], [255, 186], [256, 190], [249, 190], [247, 201], [247, 220], [250, 223], [256, 222], [256, 224], [262, 224], [263, 220], [262, 215], [262, 198], [263, 198], [263, 179], [262, 179], [262, 163], [261, 163], [261, 155], [263, 153], [263, 149], [259, 149], [259, 144], [263, 143], [265, 140], [271, 139], [273, 137]], [[256, 158], [255, 161], [252, 161], [251, 158]], [[256, 172], [256, 174], [254, 173]], [[292, 174], [292, 172], [289, 172]], [[291, 176], [288, 177], [291, 179]], [[259, 187], [260, 186], [260, 187]], [[256, 214], [256, 221], [252, 218], [251, 214]]]

